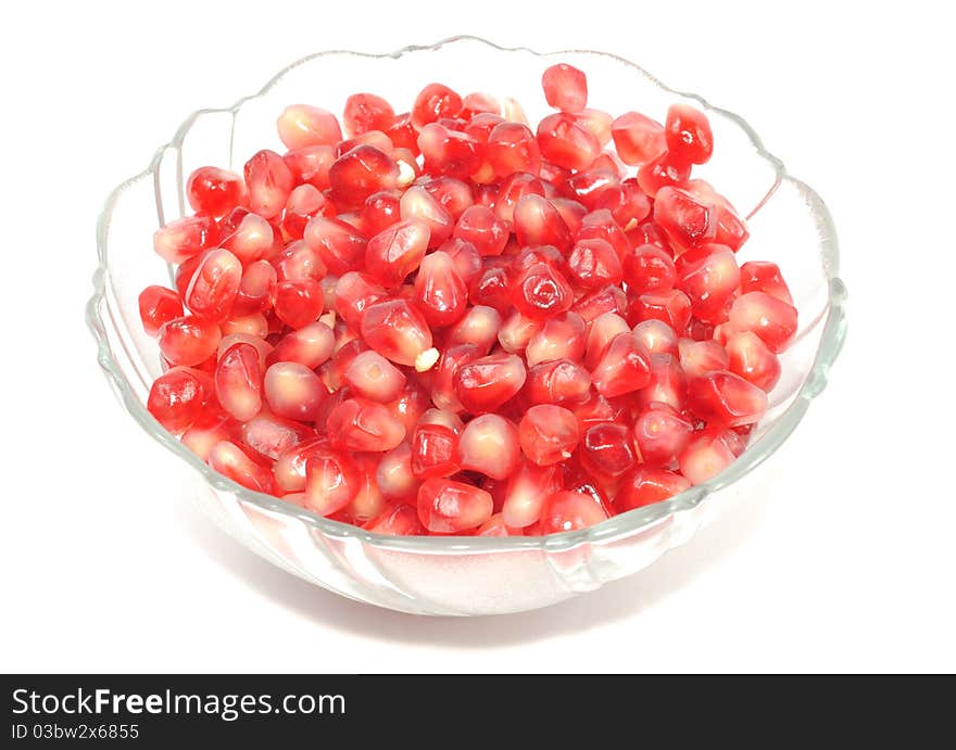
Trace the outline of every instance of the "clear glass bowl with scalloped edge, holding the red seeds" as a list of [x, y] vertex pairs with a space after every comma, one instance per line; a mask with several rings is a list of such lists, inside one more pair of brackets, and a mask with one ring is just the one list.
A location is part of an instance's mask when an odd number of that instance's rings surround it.
[[[341, 112], [354, 91], [411, 103], [432, 80], [456, 90], [514, 97], [531, 122], [545, 112], [541, 73], [565, 62], [588, 75], [589, 104], [663, 118], [669, 104], [704, 109], [714, 129], [714, 158], [694, 170], [749, 218], [741, 260], [780, 265], [800, 310], [800, 331], [781, 357], [783, 376], [746, 452], [726, 471], [674, 498], [616, 516], [587, 530], [543, 537], [393, 537], [320, 518], [254, 493], [212, 471], [163, 430], [146, 409], [160, 374], [156, 343], [143, 331], [137, 296], [169, 283], [152, 252], [152, 234], [184, 215], [184, 181], [201, 165], [240, 167], [262, 148], [282, 151], [275, 120], [290, 103]], [[845, 289], [838, 278], [836, 236], [819, 196], [790, 177], [739, 116], [701, 97], [674, 91], [645, 71], [601, 52], [538, 54], [457, 37], [390, 54], [323, 52], [275, 76], [230, 107], [200, 110], [161, 147], [149, 167], [118, 186], [98, 226], [99, 268], [88, 320], [99, 363], [133, 418], [191, 467], [200, 507], [265, 559], [343, 596], [404, 612], [475, 615], [552, 605], [630, 575], [687, 542], [705, 517], [749, 492], [749, 474], [790, 435], [827, 382], [845, 330]], [[752, 488], [752, 487], [751, 487]]]

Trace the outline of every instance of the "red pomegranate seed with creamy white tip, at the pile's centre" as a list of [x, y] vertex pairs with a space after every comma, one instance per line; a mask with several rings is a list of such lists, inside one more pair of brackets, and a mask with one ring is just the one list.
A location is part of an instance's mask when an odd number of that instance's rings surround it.
[[406, 300], [383, 300], [362, 314], [362, 338], [380, 355], [419, 372], [438, 361], [425, 316]]

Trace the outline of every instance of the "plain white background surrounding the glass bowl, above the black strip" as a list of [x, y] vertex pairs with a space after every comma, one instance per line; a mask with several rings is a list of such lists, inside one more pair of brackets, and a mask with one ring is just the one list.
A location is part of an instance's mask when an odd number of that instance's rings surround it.
[[[8, 4], [0, 670], [956, 670], [943, 5]], [[830, 205], [851, 317], [764, 496], [595, 594], [428, 620], [313, 588], [194, 514], [176, 459], [110, 393], [81, 318], [102, 199], [187, 113], [311, 52], [454, 34], [615, 52], [744, 114]]]

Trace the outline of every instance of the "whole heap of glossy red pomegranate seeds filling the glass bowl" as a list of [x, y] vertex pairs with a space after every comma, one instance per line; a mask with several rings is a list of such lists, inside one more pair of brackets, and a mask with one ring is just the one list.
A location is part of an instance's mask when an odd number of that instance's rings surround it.
[[[429, 84], [410, 112], [297, 104], [285, 154], [189, 177], [139, 298], [150, 412], [239, 484], [381, 534], [582, 529], [739, 456], [796, 309], [694, 164], [703, 113]], [[344, 131], [344, 132], [343, 132]], [[613, 143], [613, 148], [612, 147]], [[633, 168], [632, 168], [633, 167]]]

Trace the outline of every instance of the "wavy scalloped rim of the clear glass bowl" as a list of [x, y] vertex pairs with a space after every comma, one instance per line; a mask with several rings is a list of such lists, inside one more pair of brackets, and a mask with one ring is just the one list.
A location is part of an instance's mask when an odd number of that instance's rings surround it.
[[[155, 178], [155, 174], [163, 154], [169, 149], [179, 149], [181, 147], [184, 138], [186, 137], [193, 122], [198, 117], [205, 114], [231, 113], [235, 115], [242, 107], [243, 104], [268, 93], [269, 90], [290, 71], [299, 67], [300, 65], [306, 64], [317, 58], [328, 55], [354, 55], [372, 59], [399, 58], [414, 52], [438, 50], [445, 45], [460, 41], [485, 45], [502, 52], [525, 52], [541, 58], [553, 58], [562, 54], [594, 54], [613, 59], [621, 63], [622, 65], [633, 68], [664, 91], [678, 97], [693, 99], [705, 111], [717, 113], [730, 119], [744, 131], [757, 155], [760, 158], [765, 160], [772, 167], [776, 176], [773, 185], [770, 187], [764, 199], [749, 214], [747, 218], [753, 216], [759, 209], [759, 207], [773, 194], [773, 192], [776, 192], [781, 182], [787, 181], [792, 183], [804, 196], [804, 200], [807, 203], [813, 218], [817, 224], [820, 246], [823, 247], [826, 251], [827, 264], [825, 267], [825, 272], [829, 280], [829, 309], [827, 312], [827, 320], [825, 322], [825, 328], [820, 336], [820, 343], [816, 352], [816, 357], [814, 359], [813, 367], [807, 374], [806, 381], [793, 397], [792, 403], [780, 415], [777, 422], [764, 435], [762, 435], [759, 440], [749, 445], [747, 449], [735, 461], [733, 461], [730, 467], [728, 467], [725, 471], [720, 472], [709, 481], [690, 487], [685, 492], [680, 493], [679, 495], [675, 495], [674, 497], [665, 501], [614, 516], [606, 521], [602, 521], [601, 523], [579, 531], [561, 532], [556, 534], [549, 534], [545, 536], [390, 536], [386, 534], [377, 534], [375, 532], [369, 532], [358, 526], [353, 526], [347, 523], [324, 518], [322, 516], [317, 516], [316, 513], [310, 512], [290, 503], [286, 503], [285, 500], [281, 500], [272, 495], [253, 492], [237, 484], [236, 482], [227, 479], [223, 474], [219, 474], [218, 472], [210, 468], [191, 450], [183, 445], [177, 437], [175, 437], [164, 428], [162, 428], [162, 425], [160, 425], [160, 423], [155, 421], [155, 419], [153, 419], [153, 417], [149, 414], [144, 404], [140, 402], [139, 398], [134, 394], [126, 374], [123, 372], [122, 367], [113, 356], [106, 334], [106, 326], [100, 314], [101, 305], [106, 302], [105, 287], [106, 277], [109, 276], [106, 264], [106, 244], [110, 223], [112, 219], [113, 208], [120, 196], [126, 191], [126, 189], [148, 177]], [[435, 45], [413, 45], [408, 47], [403, 47], [400, 50], [385, 54], [354, 52], [351, 50], [328, 50], [325, 52], [318, 52], [302, 58], [301, 60], [298, 60], [294, 63], [282, 68], [275, 76], [273, 76], [268, 80], [268, 82], [266, 82], [266, 85], [263, 86], [262, 89], [260, 89], [256, 93], [248, 97], [242, 97], [229, 107], [211, 107], [197, 110], [196, 112], [191, 113], [176, 129], [173, 139], [168, 143], [161, 145], [155, 151], [149, 166], [143, 171], [135, 175], [134, 177], [130, 177], [127, 180], [124, 180], [110, 193], [97, 223], [97, 250], [99, 256], [99, 267], [93, 275], [93, 295], [86, 306], [87, 323], [99, 346], [98, 361], [100, 366], [105, 371], [109, 379], [112, 381], [112, 384], [117, 395], [121, 397], [121, 401], [123, 402], [127, 411], [129, 411], [130, 416], [136, 419], [140, 427], [142, 427], [143, 430], [146, 430], [146, 432], [149, 433], [154, 440], [159, 441], [162, 445], [164, 445], [166, 448], [176, 454], [179, 458], [189, 463], [194, 470], [199, 471], [203, 475], [205, 481], [215, 490], [231, 493], [237, 497], [237, 499], [251, 503], [264, 510], [280, 513], [286, 517], [297, 518], [298, 520], [305, 523], [307, 526], [315, 527], [331, 537], [357, 538], [365, 543], [373, 544], [376, 547], [382, 549], [391, 549], [395, 551], [412, 551], [417, 554], [490, 554], [495, 551], [516, 551], [520, 549], [542, 549], [546, 551], [558, 551], [569, 549], [582, 544], [592, 544], [605, 539], [627, 536], [632, 533], [643, 531], [652, 525], [655, 525], [675, 513], [692, 510], [700, 506], [704, 501], [704, 499], [708, 495], [710, 495], [710, 493], [728, 486], [741, 476], [750, 473], [767, 457], [775, 453], [777, 448], [780, 447], [780, 445], [787, 440], [787, 437], [803, 418], [804, 414], [806, 414], [809, 402], [814, 397], [819, 395], [819, 393], [826, 386], [829, 368], [840, 353], [845, 332], [846, 289], [838, 276], [839, 249], [836, 241], [836, 231], [833, 226], [830, 213], [823, 201], [812, 188], [793, 178], [787, 173], [783, 163], [764, 148], [760, 138], [746, 123], [746, 120], [744, 120], [740, 115], [728, 112], [727, 110], [721, 110], [720, 107], [716, 107], [699, 94], [671, 89], [662, 84], [656, 77], [647, 73], [644, 68], [615, 54], [594, 50], [559, 50], [555, 52], [541, 53], [525, 47], [501, 47], [486, 39], [481, 39], [480, 37], [467, 35], [450, 37], [448, 39], [438, 41]]]

